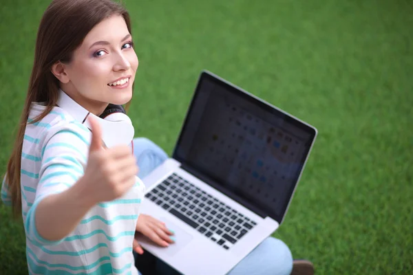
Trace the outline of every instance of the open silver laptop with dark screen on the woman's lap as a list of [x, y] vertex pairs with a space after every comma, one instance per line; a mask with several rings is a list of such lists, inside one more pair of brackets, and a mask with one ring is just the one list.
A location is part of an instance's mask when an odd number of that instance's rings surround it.
[[142, 181], [142, 213], [175, 232], [162, 248], [182, 274], [226, 274], [284, 220], [317, 129], [202, 71], [172, 157]]

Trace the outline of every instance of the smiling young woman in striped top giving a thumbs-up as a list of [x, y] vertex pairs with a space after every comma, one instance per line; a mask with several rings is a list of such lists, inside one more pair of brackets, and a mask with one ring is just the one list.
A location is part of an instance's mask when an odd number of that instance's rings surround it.
[[[136, 177], [167, 154], [145, 138], [134, 139], [134, 154], [129, 146], [104, 148], [97, 120], [90, 131], [57, 104], [59, 91], [95, 115], [109, 103], [128, 104], [137, 67], [129, 14], [118, 3], [54, 0], [43, 14], [1, 188], [3, 202], [22, 214], [30, 274], [138, 274], [135, 263], [149, 274], [175, 272], [134, 240], [138, 231], [173, 245], [165, 223], [139, 214], [145, 186]], [[287, 246], [268, 238], [231, 274], [292, 268]]]

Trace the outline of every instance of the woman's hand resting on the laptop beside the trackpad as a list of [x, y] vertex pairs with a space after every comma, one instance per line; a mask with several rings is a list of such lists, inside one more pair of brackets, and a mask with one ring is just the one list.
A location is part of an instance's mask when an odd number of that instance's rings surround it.
[[[167, 247], [169, 243], [174, 243], [173, 231], [168, 230], [165, 223], [155, 219], [147, 214], [140, 214], [138, 222], [136, 223], [136, 231], [144, 234], [156, 244]], [[138, 241], [134, 239], [134, 250], [138, 254], [143, 253], [143, 249], [140, 247]]]

